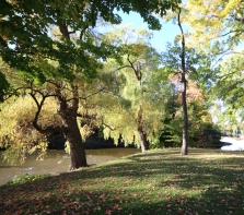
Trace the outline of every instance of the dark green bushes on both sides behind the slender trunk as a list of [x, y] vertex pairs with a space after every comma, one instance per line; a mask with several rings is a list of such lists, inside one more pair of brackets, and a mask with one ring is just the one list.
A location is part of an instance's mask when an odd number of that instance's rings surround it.
[[[167, 106], [167, 111], [171, 112], [164, 120], [164, 129], [161, 132], [160, 142], [152, 145], [153, 148], [164, 146], [181, 146], [183, 132], [183, 117], [179, 104], [174, 104], [174, 107]], [[171, 107], [171, 108], [170, 108]], [[188, 134], [189, 146], [200, 146], [205, 143], [206, 131], [213, 129], [211, 116], [208, 112], [208, 107], [202, 104], [202, 100], [191, 100], [187, 104], [188, 111]]]

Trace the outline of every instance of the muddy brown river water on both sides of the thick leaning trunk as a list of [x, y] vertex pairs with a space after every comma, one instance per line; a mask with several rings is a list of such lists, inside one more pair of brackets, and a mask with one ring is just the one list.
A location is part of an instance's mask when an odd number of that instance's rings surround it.
[[[116, 159], [118, 157], [132, 155], [140, 152], [137, 148], [101, 148], [86, 150], [88, 164], [98, 164]], [[36, 160], [34, 156], [30, 156], [21, 166], [10, 166], [0, 160], [0, 186], [12, 180], [18, 175], [23, 174], [50, 174], [65, 172], [70, 166], [70, 157], [65, 151], [49, 150], [44, 160]]]

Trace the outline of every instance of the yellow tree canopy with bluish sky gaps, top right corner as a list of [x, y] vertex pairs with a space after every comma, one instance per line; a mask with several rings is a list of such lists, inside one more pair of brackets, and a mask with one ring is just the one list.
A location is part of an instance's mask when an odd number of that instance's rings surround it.
[[244, 39], [243, 7], [242, 0], [187, 1], [185, 21], [190, 26], [193, 45], [210, 47], [217, 43], [219, 51], [219, 46], [230, 51], [240, 45]]

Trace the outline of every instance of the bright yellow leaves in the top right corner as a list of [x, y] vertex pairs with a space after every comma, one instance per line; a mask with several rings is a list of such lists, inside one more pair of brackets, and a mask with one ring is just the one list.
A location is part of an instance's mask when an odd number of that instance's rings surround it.
[[[212, 39], [219, 39], [230, 26], [228, 20], [244, 7], [242, 0], [188, 0], [184, 4], [183, 22], [189, 25], [188, 46], [209, 47]], [[235, 21], [230, 21], [233, 25]], [[243, 39], [240, 36], [240, 39]]]

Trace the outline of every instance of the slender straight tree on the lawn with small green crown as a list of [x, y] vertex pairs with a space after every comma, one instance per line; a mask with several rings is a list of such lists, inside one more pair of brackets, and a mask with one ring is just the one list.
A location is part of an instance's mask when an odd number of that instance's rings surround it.
[[[177, 22], [181, 28], [179, 14]], [[195, 81], [199, 88], [207, 88], [209, 83], [206, 81], [216, 68], [212, 68], [210, 55], [206, 55], [204, 51], [197, 51], [194, 48], [189, 48], [185, 44], [185, 35], [181, 32], [179, 39], [176, 37], [174, 46], [167, 45], [166, 51], [162, 53], [162, 62], [164, 64], [164, 71], [167, 74], [176, 75], [179, 79], [177, 87], [181, 88], [182, 106], [183, 106], [183, 144], [182, 155], [187, 154], [188, 145], [188, 115], [187, 115], [187, 84], [188, 80]], [[181, 47], [177, 44], [181, 41]], [[218, 69], [218, 68], [217, 68]], [[179, 84], [181, 83], [181, 84]]]

